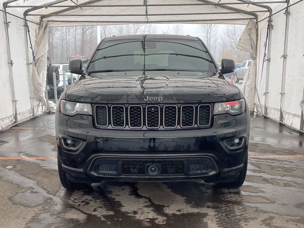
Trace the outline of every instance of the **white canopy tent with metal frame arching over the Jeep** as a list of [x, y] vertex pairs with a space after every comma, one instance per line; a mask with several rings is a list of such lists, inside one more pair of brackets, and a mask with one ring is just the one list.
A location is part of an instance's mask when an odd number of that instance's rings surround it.
[[254, 60], [243, 83], [250, 108], [303, 130], [304, 73], [300, 69], [304, 64], [303, 0], [0, 2], [3, 14], [0, 17], [0, 130], [41, 113], [40, 101], [44, 102], [46, 81], [47, 27], [126, 23], [247, 25], [237, 47], [250, 52]]

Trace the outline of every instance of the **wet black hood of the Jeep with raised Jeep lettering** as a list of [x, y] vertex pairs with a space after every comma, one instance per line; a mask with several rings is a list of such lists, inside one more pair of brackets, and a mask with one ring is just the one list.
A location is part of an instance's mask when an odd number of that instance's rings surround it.
[[240, 99], [238, 88], [218, 74], [177, 71], [98, 73], [70, 85], [62, 97], [91, 103], [220, 102]]

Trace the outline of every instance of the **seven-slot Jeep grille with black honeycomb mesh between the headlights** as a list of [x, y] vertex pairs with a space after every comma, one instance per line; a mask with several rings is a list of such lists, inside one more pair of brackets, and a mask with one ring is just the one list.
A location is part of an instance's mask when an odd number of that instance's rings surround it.
[[95, 105], [99, 128], [174, 129], [211, 125], [212, 106], [200, 105]]

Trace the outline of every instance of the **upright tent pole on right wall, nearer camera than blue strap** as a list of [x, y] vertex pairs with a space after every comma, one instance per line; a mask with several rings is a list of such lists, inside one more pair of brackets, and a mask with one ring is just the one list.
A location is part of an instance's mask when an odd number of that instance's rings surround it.
[[280, 103], [280, 121], [284, 122], [284, 101], [285, 101], [285, 87], [286, 87], [286, 74], [287, 74], [287, 55], [288, 55], [288, 38], [289, 38], [289, 22], [290, 22], [290, 7], [289, 0], [285, 11], [286, 24], [285, 24], [285, 39], [284, 39], [284, 54], [283, 58], [283, 69], [282, 69], [282, 86], [281, 86], [281, 103]]

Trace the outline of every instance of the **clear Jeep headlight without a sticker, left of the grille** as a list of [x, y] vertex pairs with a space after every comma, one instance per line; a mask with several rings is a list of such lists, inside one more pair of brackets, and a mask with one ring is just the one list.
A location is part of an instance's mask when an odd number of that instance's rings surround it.
[[92, 115], [91, 104], [61, 100], [60, 105], [61, 112], [67, 116], [75, 116], [77, 114]]

